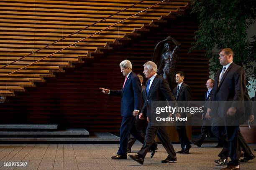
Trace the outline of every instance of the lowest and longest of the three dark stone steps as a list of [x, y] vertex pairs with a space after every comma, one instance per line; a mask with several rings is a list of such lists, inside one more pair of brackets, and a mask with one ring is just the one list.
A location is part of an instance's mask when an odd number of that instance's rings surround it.
[[0, 143], [5, 142], [119, 142], [120, 138], [111, 133], [94, 133], [84, 138], [0, 138]]

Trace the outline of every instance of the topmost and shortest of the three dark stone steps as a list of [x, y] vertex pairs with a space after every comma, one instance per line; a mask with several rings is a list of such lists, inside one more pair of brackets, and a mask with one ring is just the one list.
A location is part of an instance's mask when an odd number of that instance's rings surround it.
[[58, 124], [0, 124], [0, 129], [57, 129]]

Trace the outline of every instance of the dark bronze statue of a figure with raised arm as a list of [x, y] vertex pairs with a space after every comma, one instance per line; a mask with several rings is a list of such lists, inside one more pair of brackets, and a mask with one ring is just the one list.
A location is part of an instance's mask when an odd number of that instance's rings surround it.
[[[171, 49], [171, 42], [175, 45], [173, 49]], [[157, 43], [153, 54], [153, 61], [158, 68], [157, 74], [167, 80], [171, 89], [173, 89], [172, 84], [175, 80], [179, 49], [179, 42], [169, 36], [165, 40]]]

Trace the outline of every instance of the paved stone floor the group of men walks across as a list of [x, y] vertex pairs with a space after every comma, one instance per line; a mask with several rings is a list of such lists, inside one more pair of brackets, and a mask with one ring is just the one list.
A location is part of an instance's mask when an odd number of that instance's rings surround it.
[[[225, 166], [214, 163], [221, 148], [216, 143], [205, 143], [201, 148], [192, 146], [188, 155], [177, 154], [177, 163], [160, 163], [167, 154], [162, 145], [154, 158], [148, 153], [143, 165], [128, 160], [112, 160], [118, 144], [15, 144], [0, 145], [0, 170], [218, 170]], [[249, 144], [251, 150], [256, 144]], [[140, 149], [136, 142], [132, 154]], [[180, 145], [174, 144], [174, 149]], [[253, 151], [256, 155], [256, 152]], [[26, 166], [4, 166], [7, 163], [27, 163]], [[241, 170], [256, 170], [256, 159], [241, 163]]]

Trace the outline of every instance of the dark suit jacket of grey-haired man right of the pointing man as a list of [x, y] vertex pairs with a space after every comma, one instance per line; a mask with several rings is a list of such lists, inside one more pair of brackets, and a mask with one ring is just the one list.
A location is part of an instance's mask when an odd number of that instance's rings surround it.
[[[148, 81], [146, 82], [148, 85]], [[144, 92], [145, 102], [141, 113], [145, 114], [148, 117], [151, 117], [151, 102], [152, 101], [174, 101], [175, 105], [177, 105], [175, 97], [172, 95], [172, 91], [169, 87], [168, 82], [159, 75], [156, 75], [154, 78], [151, 87], [149, 89], [148, 96], [146, 95], [146, 91]]]

